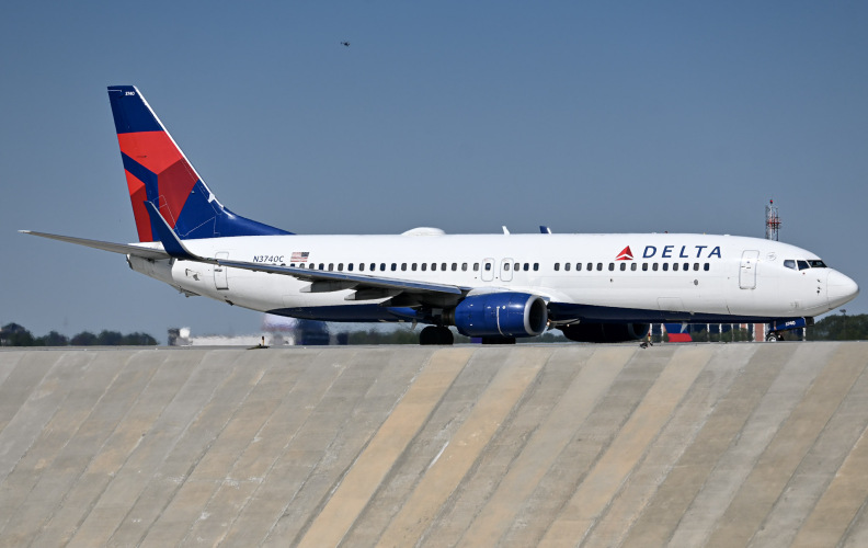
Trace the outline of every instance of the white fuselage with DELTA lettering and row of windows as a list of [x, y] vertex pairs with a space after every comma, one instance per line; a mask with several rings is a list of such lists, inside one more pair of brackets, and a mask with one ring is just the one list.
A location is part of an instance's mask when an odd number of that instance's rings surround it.
[[[553, 322], [749, 321], [812, 317], [858, 293], [803, 249], [676, 235], [255, 236], [186, 240], [203, 256], [538, 295]], [[810, 266], [813, 264], [814, 266]], [[790, 267], [792, 265], [792, 267]], [[799, 270], [800, 265], [807, 265]], [[139, 272], [253, 310], [323, 320], [401, 320], [353, 289], [308, 293], [289, 275], [130, 258]], [[372, 310], [375, 310], [372, 313]]]

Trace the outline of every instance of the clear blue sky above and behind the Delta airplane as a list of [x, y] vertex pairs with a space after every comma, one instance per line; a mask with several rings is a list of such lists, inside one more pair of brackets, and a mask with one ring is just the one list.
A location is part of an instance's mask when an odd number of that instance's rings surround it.
[[136, 240], [111, 84], [224, 204], [287, 230], [762, 237], [774, 198], [781, 240], [868, 312], [866, 28], [855, 1], [4, 2], [0, 323], [259, 329], [16, 232]]

